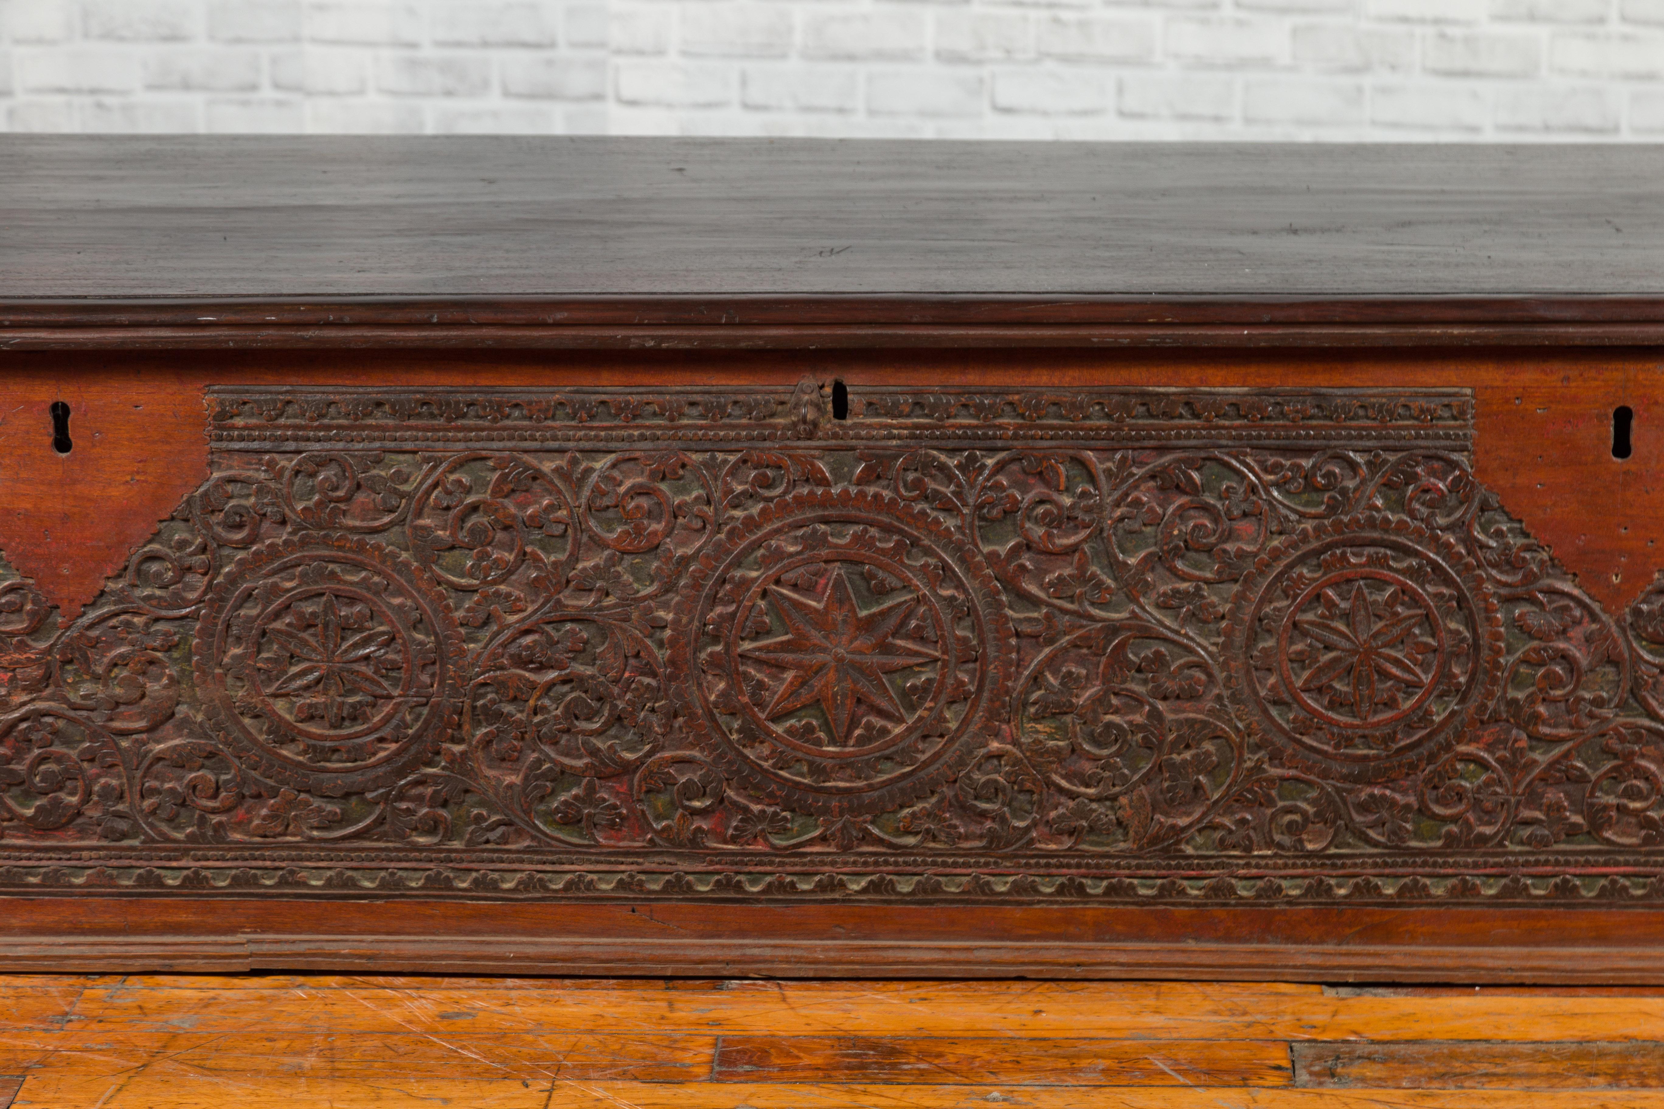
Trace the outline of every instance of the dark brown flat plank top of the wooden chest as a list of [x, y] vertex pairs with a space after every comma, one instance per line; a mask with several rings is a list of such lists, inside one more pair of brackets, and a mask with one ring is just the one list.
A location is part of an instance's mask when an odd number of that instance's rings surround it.
[[13, 308], [1654, 298], [1664, 146], [8, 136], [0, 228]]

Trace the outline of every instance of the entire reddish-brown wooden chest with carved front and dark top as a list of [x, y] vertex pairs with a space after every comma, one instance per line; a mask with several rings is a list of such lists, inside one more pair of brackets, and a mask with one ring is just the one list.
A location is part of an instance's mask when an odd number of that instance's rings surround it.
[[7, 968], [1664, 974], [1656, 150], [0, 170]]

